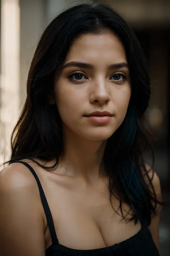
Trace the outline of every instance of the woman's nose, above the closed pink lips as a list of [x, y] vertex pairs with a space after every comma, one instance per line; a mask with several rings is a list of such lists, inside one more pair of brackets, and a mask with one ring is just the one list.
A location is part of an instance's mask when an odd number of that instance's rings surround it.
[[92, 86], [92, 90], [90, 92], [90, 102], [91, 103], [98, 103], [98, 104], [104, 104], [109, 103], [110, 101], [110, 94], [109, 94], [109, 87], [107, 85], [107, 82], [105, 82], [103, 79], [100, 79], [99, 81], [94, 82]]

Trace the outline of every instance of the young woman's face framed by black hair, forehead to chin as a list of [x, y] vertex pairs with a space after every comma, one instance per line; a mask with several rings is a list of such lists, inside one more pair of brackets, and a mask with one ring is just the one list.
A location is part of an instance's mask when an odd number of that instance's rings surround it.
[[65, 133], [107, 140], [123, 122], [131, 97], [120, 40], [111, 32], [75, 40], [54, 90]]

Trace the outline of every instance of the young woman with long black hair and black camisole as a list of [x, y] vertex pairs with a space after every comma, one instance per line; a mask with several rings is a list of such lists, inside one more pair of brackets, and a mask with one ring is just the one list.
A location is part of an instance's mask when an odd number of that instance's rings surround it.
[[149, 98], [140, 44], [111, 8], [77, 5], [49, 24], [0, 173], [2, 256], [159, 255]]

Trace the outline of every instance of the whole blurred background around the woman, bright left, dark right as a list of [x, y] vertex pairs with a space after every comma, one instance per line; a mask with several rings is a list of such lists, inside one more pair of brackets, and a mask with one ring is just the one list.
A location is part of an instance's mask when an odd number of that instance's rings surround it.
[[[0, 1], [0, 165], [10, 158], [11, 131], [26, 96], [28, 69], [39, 37], [72, 0]], [[86, 1], [86, 3], [93, 1]], [[145, 50], [151, 78], [148, 122], [157, 138], [154, 170], [163, 199], [170, 199], [170, 0], [95, 1], [112, 6], [135, 31]], [[151, 164], [150, 156], [146, 162]], [[161, 256], [170, 255], [170, 208], [160, 224]]]

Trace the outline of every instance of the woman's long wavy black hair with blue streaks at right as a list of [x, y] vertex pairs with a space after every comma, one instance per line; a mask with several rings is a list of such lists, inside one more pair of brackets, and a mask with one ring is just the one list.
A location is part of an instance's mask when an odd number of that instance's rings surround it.
[[[149, 225], [157, 203], [161, 204], [156, 199], [143, 160], [152, 142], [145, 124], [150, 81], [145, 55], [134, 32], [108, 5], [75, 5], [58, 15], [44, 31], [30, 66], [27, 99], [11, 137], [9, 163], [27, 158], [46, 170], [58, 166], [63, 153], [62, 121], [57, 106], [48, 103], [48, 95], [54, 93], [55, 77], [60, 73], [72, 42], [86, 33], [108, 31], [112, 31], [124, 46], [132, 86], [126, 117], [108, 139], [103, 156], [105, 172], [109, 176], [110, 201], [112, 203], [114, 188], [122, 217], [125, 218], [122, 202], [126, 202], [133, 210], [130, 220], [135, 223], [143, 220]], [[45, 167], [36, 159], [56, 161], [53, 166]]]

